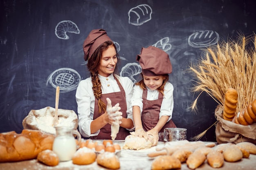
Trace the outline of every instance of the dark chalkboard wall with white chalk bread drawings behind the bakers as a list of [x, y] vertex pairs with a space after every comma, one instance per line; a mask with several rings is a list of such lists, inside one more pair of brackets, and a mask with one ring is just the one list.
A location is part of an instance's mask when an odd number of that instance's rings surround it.
[[[106, 29], [121, 57], [119, 72], [138, 79], [141, 47], [157, 46], [170, 55], [174, 90], [173, 121], [190, 139], [215, 121], [216, 102], [203, 94], [198, 113], [189, 88], [189, 63], [202, 49], [256, 27], [252, 0], [0, 0], [0, 132], [21, 132], [32, 109], [55, 107], [76, 112], [75, 92], [89, 76], [82, 44], [92, 29]], [[205, 141], [216, 141], [210, 128]]]

